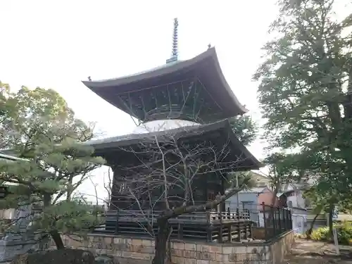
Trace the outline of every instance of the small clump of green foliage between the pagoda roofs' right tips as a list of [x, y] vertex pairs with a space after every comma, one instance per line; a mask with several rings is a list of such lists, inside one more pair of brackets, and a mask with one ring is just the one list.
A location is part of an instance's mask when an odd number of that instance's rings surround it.
[[251, 116], [236, 116], [230, 118], [229, 122], [232, 127], [232, 131], [236, 134], [239, 141], [245, 146], [248, 146], [256, 139], [258, 127]]

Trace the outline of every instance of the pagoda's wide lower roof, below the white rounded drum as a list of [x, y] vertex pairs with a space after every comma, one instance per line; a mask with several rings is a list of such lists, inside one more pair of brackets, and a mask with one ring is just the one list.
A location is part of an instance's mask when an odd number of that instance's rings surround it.
[[[173, 137], [178, 140], [185, 140], [191, 144], [192, 140], [197, 141], [199, 137], [203, 140], [208, 140], [214, 144], [227, 144], [230, 147], [230, 156], [236, 158], [241, 156], [243, 158], [243, 164], [240, 170], [258, 170], [263, 167], [251, 152], [246, 149], [230, 127], [228, 120], [222, 120], [208, 125], [194, 125], [188, 127], [180, 127], [172, 130], [163, 130], [160, 132], [151, 132], [144, 134], [127, 134], [118, 137], [108, 137], [106, 139], [95, 139], [89, 142], [85, 142], [89, 146], [94, 147], [94, 153], [96, 156], [102, 156], [106, 158], [108, 164], [111, 163], [109, 159], [117, 157], [117, 153], [122, 153], [124, 149], [137, 146], [139, 144], [145, 144], [151, 142], [151, 140], [158, 139], [159, 142], [163, 141], [164, 138]], [[125, 158], [126, 154], [121, 154]]]

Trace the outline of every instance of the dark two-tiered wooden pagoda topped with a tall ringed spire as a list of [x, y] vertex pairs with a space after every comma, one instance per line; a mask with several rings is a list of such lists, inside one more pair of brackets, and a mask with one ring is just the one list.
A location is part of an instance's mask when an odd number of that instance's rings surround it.
[[[186, 152], [196, 146], [208, 149], [212, 146], [212, 153], [198, 158], [199, 161], [210, 163], [207, 158], [216, 156], [213, 162], [216, 163], [216, 170], [203, 170], [199, 177], [194, 177], [194, 204], [202, 204], [213, 199], [216, 194], [224, 194], [227, 172], [255, 170], [261, 166], [237, 139], [228, 121], [229, 118], [246, 113], [246, 108], [239, 103], [222, 75], [215, 48], [208, 47], [202, 54], [189, 60], [178, 60], [177, 25], [175, 20], [172, 57], [165, 65], [111, 80], [94, 81], [89, 77], [89, 81], [83, 82], [102, 99], [139, 121], [131, 134], [87, 142], [94, 147], [97, 156], [106, 159], [113, 170], [109, 206], [111, 213], [108, 214], [110, 218], [106, 219], [106, 230], [123, 233], [122, 226], [126, 225], [127, 228], [128, 222], [127, 218], [122, 220], [123, 212], [137, 211], [141, 207], [142, 210], [148, 210], [150, 203], [146, 200], [151, 198], [141, 196], [141, 201], [136, 205], [135, 201], [126, 198], [123, 186], [127, 177], [144, 173], [136, 169], [140, 168], [141, 163], [151, 163], [151, 156], [146, 158], [146, 155], [138, 153], [147, 153], [148, 148], [155, 150], [156, 144], [151, 146], [155, 140], [165, 143], [172, 135], [177, 149]], [[155, 196], [156, 199], [160, 197], [161, 189], [155, 189], [159, 194]], [[182, 190], [178, 194], [182, 196]], [[175, 202], [174, 206], [177, 206], [177, 199], [170, 202]], [[153, 210], [163, 210], [163, 206], [163, 203], [158, 203]], [[213, 210], [226, 211], [225, 203]], [[120, 214], [120, 217], [114, 214]], [[119, 224], [116, 224], [116, 217]], [[130, 218], [130, 222], [133, 221]], [[136, 225], [132, 226], [134, 230], [137, 229]], [[133, 233], [132, 229], [126, 230], [126, 234]], [[175, 230], [177, 232], [177, 228]]]

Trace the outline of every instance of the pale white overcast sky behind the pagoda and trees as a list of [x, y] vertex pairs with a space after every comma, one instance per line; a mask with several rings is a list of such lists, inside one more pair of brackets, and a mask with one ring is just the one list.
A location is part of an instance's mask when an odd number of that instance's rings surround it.
[[[215, 46], [239, 101], [260, 119], [251, 82], [275, 19], [275, 0], [246, 1], [0, 1], [0, 80], [14, 89], [56, 89], [77, 116], [106, 135], [130, 133], [129, 115], [100, 99], [81, 80], [120, 77], [165, 63], [173, 18], [179, 18], [180, 59]], [[263, 142], [249, 148], [263, 158]], [[103, 172], [96, 172], [103, 198]], [[81, 188], [94, 192], [87, 181]]]

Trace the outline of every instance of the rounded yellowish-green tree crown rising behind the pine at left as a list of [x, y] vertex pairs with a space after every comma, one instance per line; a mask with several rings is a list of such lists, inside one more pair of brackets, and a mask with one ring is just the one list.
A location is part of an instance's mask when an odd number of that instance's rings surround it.
[[82, 142], [93, 137], [91, 125], [75, 118], [75, 113], [52, 89], [22, 87], [11, 93], [6, 86], [6, 114], [1, 122], [2, 149], [13, 149], [21, 158], [32, 158], [37, 144], [58, 144], [67, 139]]

